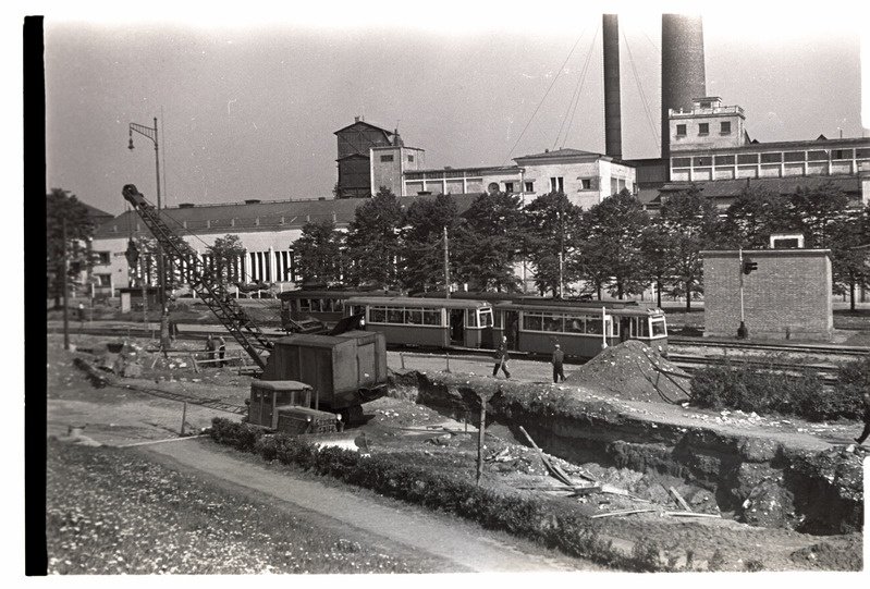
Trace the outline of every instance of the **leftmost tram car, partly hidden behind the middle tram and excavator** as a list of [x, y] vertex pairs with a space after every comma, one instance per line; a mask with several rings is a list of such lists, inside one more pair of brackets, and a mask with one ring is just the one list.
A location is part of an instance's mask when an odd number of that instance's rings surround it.
[[285, 291], [281, 300], [281, 329], [294, 331], [302, 321], [316, 319], [331, 328], [345, 317], [345, 304], [356, 296], [397, 296], [394, 291], [359, 291], [346, 289], [299, 289]]

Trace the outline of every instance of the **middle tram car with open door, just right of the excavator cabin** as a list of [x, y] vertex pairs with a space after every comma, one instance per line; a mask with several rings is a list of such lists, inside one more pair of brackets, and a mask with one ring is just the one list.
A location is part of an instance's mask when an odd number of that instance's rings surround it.
[[388, 345], [494, 347], [492, 305], [483, 300], [360, 296], [346, 300], [345, 314], [362, 316]]

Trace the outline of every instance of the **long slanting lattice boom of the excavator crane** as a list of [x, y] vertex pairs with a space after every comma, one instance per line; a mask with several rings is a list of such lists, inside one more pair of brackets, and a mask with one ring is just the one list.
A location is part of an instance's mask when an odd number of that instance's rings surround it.
[[230, 295], [220, 280], [206, 268], [187, 242], [179, 237], [157, 216], [157, 209], [148, 203], [134, 184], [126, 184], [122, 191], [124, 198], [151, 231], [166, 256], [182, 265], [191, 273], [191, 287], [220, 320], [235, 341], [247, 352], [260, 369], [266, 369], [266, 360], [259, 351], [271, 351], [272, 342], [266, 336], [245, 309]]

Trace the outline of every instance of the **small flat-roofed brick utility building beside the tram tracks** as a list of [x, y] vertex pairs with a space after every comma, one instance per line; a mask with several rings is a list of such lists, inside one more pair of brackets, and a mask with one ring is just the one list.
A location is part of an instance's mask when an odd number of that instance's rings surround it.
[[739, 251], [702, 251], [701, 256], [704, 336], [736, 336], [743, 306], [749, 339], [831, 340], [830, 250], [744, 250], [743, 261], [757, 265], [748, 274]]

